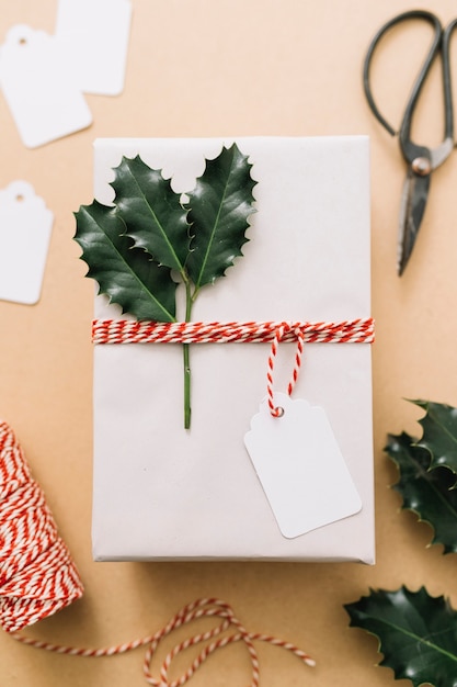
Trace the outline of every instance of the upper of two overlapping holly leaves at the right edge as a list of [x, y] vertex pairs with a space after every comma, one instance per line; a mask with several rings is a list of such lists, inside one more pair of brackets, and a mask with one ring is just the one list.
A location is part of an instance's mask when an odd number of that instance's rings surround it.
[[423, 428], [419, 446], [430, 451], [431, 468], [444, 465], [457, 474], [457, 408], [430, 401], [412, 403], [425, 410], [425, 416], [419, 420]]

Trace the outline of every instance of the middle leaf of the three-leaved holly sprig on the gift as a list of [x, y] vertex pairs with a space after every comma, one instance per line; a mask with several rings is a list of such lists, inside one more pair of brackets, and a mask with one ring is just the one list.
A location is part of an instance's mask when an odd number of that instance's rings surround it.
[[190, 225], [181, 195], [160, 170], [151, 169], [139, 156], [123, 157], [114, 176], [114, 205], [135, 246], [147, 250], [159, 264], [182, 272], [190, 249]]

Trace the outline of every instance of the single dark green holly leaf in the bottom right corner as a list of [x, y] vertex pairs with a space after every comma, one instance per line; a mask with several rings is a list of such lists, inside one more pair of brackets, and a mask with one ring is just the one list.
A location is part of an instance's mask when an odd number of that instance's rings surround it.
[[443, 596], [432, 597], [424, 587], [372, 589], [344, 608], [351, 627], [378, 638], [379, 665], [391, 668], [396, 679], [410, 679], [414, 687], [457, 687], [457, 612]]

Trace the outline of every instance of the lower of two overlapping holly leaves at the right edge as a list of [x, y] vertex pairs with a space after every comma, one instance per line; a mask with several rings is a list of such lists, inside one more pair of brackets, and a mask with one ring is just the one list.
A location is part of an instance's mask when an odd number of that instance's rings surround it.
[[408, 433], [389, 435], [385, 449], [400, 472], [393, 488], [403, 497], [403, 508], [434, 529], [432, 543], [444, 553], [457, 553], [457, 489], [447, 468], [431, 470], [431, 453]]

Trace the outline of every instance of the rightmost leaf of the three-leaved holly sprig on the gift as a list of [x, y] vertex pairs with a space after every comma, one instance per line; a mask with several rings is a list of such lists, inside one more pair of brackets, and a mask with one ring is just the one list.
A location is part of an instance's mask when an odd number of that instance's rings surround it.
[[251, 167], [236, 144], [224, 147], [218, 157], [206, 160], [204, 173], [187, 194], [192, 240], [186, 268], [196, 291], [222, 277], [242, 256], [248, 218], [254, 212]]

